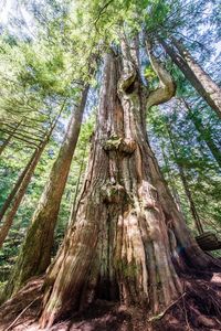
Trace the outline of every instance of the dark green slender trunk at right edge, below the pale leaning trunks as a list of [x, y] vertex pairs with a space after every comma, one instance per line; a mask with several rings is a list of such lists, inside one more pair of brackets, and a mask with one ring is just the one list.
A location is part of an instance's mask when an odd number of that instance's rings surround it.
[[198, 132], [200, 134], [201, 139], [206, 142], [206, 145], [208, 146], [210, 152], [212, 153], [214, 160], [218, 162], [218, 166], [221, 168], [221, 151], [220, 149], [215, 146], [211, 134], [210, 134], [210, 129], [206, 129], [203, 127], [202, 120], [199, 116], [197, 116], [196, 114], [193, 114], [191, 107], [189, 106], [188, 102], [182, 99], [182, 103], [187, 109], [187, 111], [191, 115], [191, 120], [196, 127], [196, 129], [198, 130]]

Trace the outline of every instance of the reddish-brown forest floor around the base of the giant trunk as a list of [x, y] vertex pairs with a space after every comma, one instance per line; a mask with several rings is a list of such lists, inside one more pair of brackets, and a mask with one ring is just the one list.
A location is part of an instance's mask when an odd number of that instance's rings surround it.
[[[0, 308], [0, 331], [36, 331], [43, 278], [35, 278]], [[185, 277], [185, 292], [155, 318], [144, 310], [96, 300], [86, 311], [60, 322], [51, 331], [219, 331], [221, 274]]]

